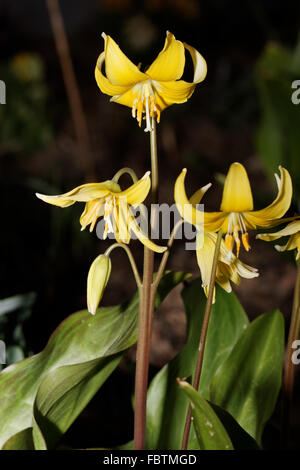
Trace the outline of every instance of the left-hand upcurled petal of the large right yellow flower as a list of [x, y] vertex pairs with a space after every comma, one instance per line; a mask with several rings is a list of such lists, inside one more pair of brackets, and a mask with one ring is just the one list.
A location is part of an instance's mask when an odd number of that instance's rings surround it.
[[197, 210], [189, 201], [184, 187], [186, 168], [178, 176], [174, 187], [174, 199], [181, 217], [192, 225], [205, 231], [216, 232], [219, 230], [226, 218], [222, 212], [202, 212]]

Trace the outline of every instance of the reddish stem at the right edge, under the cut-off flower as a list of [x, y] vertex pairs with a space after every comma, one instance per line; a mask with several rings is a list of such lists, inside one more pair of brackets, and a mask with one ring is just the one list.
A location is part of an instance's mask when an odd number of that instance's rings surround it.
[[294, 290], [293, 310], [283, 372], [283, 396], [281, 415], [281, 446], [288, 447], [290, 414], [293, 399], [295, 364], [292, 361], [293, 343], [300, 337], [300, 262], [297, 263], [297, 278]]

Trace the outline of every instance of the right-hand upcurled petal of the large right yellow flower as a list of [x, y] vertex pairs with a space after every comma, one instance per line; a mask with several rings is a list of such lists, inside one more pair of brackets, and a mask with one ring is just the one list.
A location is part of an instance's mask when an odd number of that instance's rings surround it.
[[246, 215], [246, 218], [250, 222], [254, 223], [258, 227], [272, 227], [278, 225], [280, 219], [286, 211], [289, 209], [293, 186], [289, 172], [279, 167], [280, 170], [280, 187], [276, 199], [265, 209], [259, 211], [251, 211]]

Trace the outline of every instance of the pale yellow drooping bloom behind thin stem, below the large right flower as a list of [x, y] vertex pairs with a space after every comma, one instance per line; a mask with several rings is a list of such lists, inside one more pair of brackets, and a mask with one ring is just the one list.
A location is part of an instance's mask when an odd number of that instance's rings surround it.
[[[201, 272], [202, 287], [206, 296], [208, 296], [216, 240], [217, 235], [215, 233], [204, 232], [197, 234], [197, 262]], [[232, 291], [230, 281], [234, 282], [235, 284], [240, 284], [241, 277], [251, 279], [253, 277], [257, 277], [258, 275], [259, 274], [256, 268], [242, 263], [242, 261], [240, 261], [232, 252], [228, 251], [225, 242], [223, 240], [221, 241], [217, 264], [216, 282], [226, 292]]]

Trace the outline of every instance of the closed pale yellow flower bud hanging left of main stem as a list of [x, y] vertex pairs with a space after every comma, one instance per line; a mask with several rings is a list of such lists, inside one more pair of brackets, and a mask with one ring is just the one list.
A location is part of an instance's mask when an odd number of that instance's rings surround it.
[[88, 311], [95, 315], [102, 299], [111, 271], [111, 261], [106, 255], [99, 255], [91, 264], [87, 280]]

